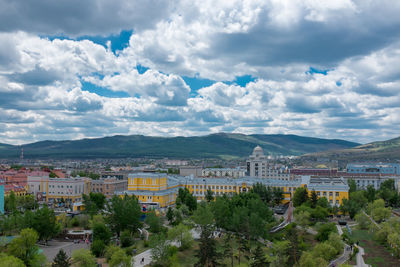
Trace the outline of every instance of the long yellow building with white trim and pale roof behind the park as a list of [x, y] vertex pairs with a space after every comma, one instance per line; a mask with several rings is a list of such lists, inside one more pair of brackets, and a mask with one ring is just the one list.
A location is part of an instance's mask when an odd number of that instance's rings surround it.
[[315, 190], [319, 197], [326, 197], [333, 205], [342, 204], [348, 198], [349, 187], [341, 178], [311, 178], [301, 176], [291, 180], [263, 179], [259, 177], [243, 178], [197, 178], [193, 176], [167, 176], [164, 174], [131, 174], [128, 178], [128, 190], [119, 195], [135, 195], [144, 206], [165, 208], [175, 204], [179, 188], [187, 188], [198, 200], [204, 200], [207, 190], [215, 196], [233, 195], [249, 191], [256, 183], [281, 188], [283, 202], [289, 202], [296, 188], [306, 187], [310, 194]]

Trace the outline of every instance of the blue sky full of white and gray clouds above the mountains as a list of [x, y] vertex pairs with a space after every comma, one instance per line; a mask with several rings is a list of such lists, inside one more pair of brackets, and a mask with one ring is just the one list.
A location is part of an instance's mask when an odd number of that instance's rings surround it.
[[400, 135], [400, 1], [0, 0], [0, 143]]

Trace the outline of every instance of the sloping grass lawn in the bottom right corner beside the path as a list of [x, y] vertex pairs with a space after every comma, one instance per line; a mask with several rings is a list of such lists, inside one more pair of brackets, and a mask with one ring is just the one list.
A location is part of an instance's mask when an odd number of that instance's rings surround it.
[[400, 260], [392, 256], [391, 252], [383, 245], [373, 240], [373, 235], [366, 230], [354, 230], [352, 236], [364, 248], [364, 261], [373, 267], [400, 266]]

